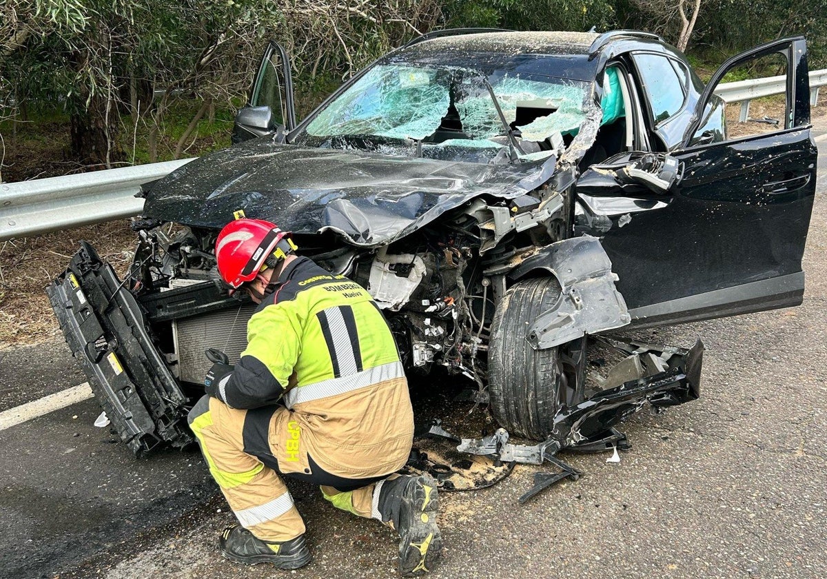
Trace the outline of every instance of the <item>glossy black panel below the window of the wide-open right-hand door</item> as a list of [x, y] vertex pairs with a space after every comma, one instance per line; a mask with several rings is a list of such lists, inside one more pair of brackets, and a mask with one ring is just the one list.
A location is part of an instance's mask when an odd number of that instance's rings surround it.
[[[667, 206], [603, 237], [629, 308], [800, 273], [815, 153], [808, 132], [793, 130], [678, 155], [686, 176], [658, 199]], [[783, 305], [800, 304], [799, 289]]]

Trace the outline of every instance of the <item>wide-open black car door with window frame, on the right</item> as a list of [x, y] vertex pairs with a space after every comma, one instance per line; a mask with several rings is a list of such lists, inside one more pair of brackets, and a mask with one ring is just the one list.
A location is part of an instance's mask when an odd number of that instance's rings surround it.
[[[744, 69], [776, 78], [782, 72], [784, 95], [769, 99], [770, 115], [743, 123], [761, 131], [742, 135], [749, 131], [739, 127], [736, 110], [728, 111], [729, 134], [722, 134], [715, 88], [728, 73]], [[641, 106], [649, 107], [648, 122], [654, 123], [651, 134], [666, 136], [666, 127], [657, 124], [663, 122], [674, 134], [684, 115], [667, 111], [658, 120], [653, 113], [662, 94], [648, 92], [640, 79], [638, 85]], [[589, 189], [592, 199], [603, 196], [605, 207], [636, 207], [609, 214], [602, 231], [581, 231], [601, 237], [638, 327], [797, 305], [804, 293], [801, 257], [817, 154], [804, 38], [773, 41], [728, 60], [693, 110], [682, 123], [682, 138], [668, 147], [682, 164], [678, 184], [661, 194], [633, 186]]]

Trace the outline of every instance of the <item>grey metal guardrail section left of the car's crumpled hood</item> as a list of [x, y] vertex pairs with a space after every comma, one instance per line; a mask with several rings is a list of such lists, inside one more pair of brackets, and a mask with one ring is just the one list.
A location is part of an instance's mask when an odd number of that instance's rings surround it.
[[141, 184], [191, 160], [0, 184], [0, 242], [134, 217], [144, 207], [144, 200], [135, 197]]

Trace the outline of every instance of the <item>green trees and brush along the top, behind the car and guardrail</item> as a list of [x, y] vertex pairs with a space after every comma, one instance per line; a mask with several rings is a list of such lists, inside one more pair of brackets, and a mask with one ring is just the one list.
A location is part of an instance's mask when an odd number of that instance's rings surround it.
[[[105, 132], [127, 161], [133, 149], [136, 159], [160, 159], [177, 140], [186, 147], [194, 139], [187, 127], [198, 102], [229, 116], [246, 102], [271, 39], [292, 56], [297, 112], [304, 117], [357, 69], [419, 32], [628, 27], [676, 41], [675, 6], [672, 0], [0, 0], [0, 122], [61, 111], [73, 127]], [[827, 67], [827, 0], [702, 0], [689, 56], [708, 78], [726, 56], [794, 34], [807, 37], [810, 69]], [[170, 91], [153, 98], [164, 89]], [[203, 119], [194, 131], [208, 138], [225, 125], [218, 117]], [[108, 152], [119, 154], [117, 146]]]

